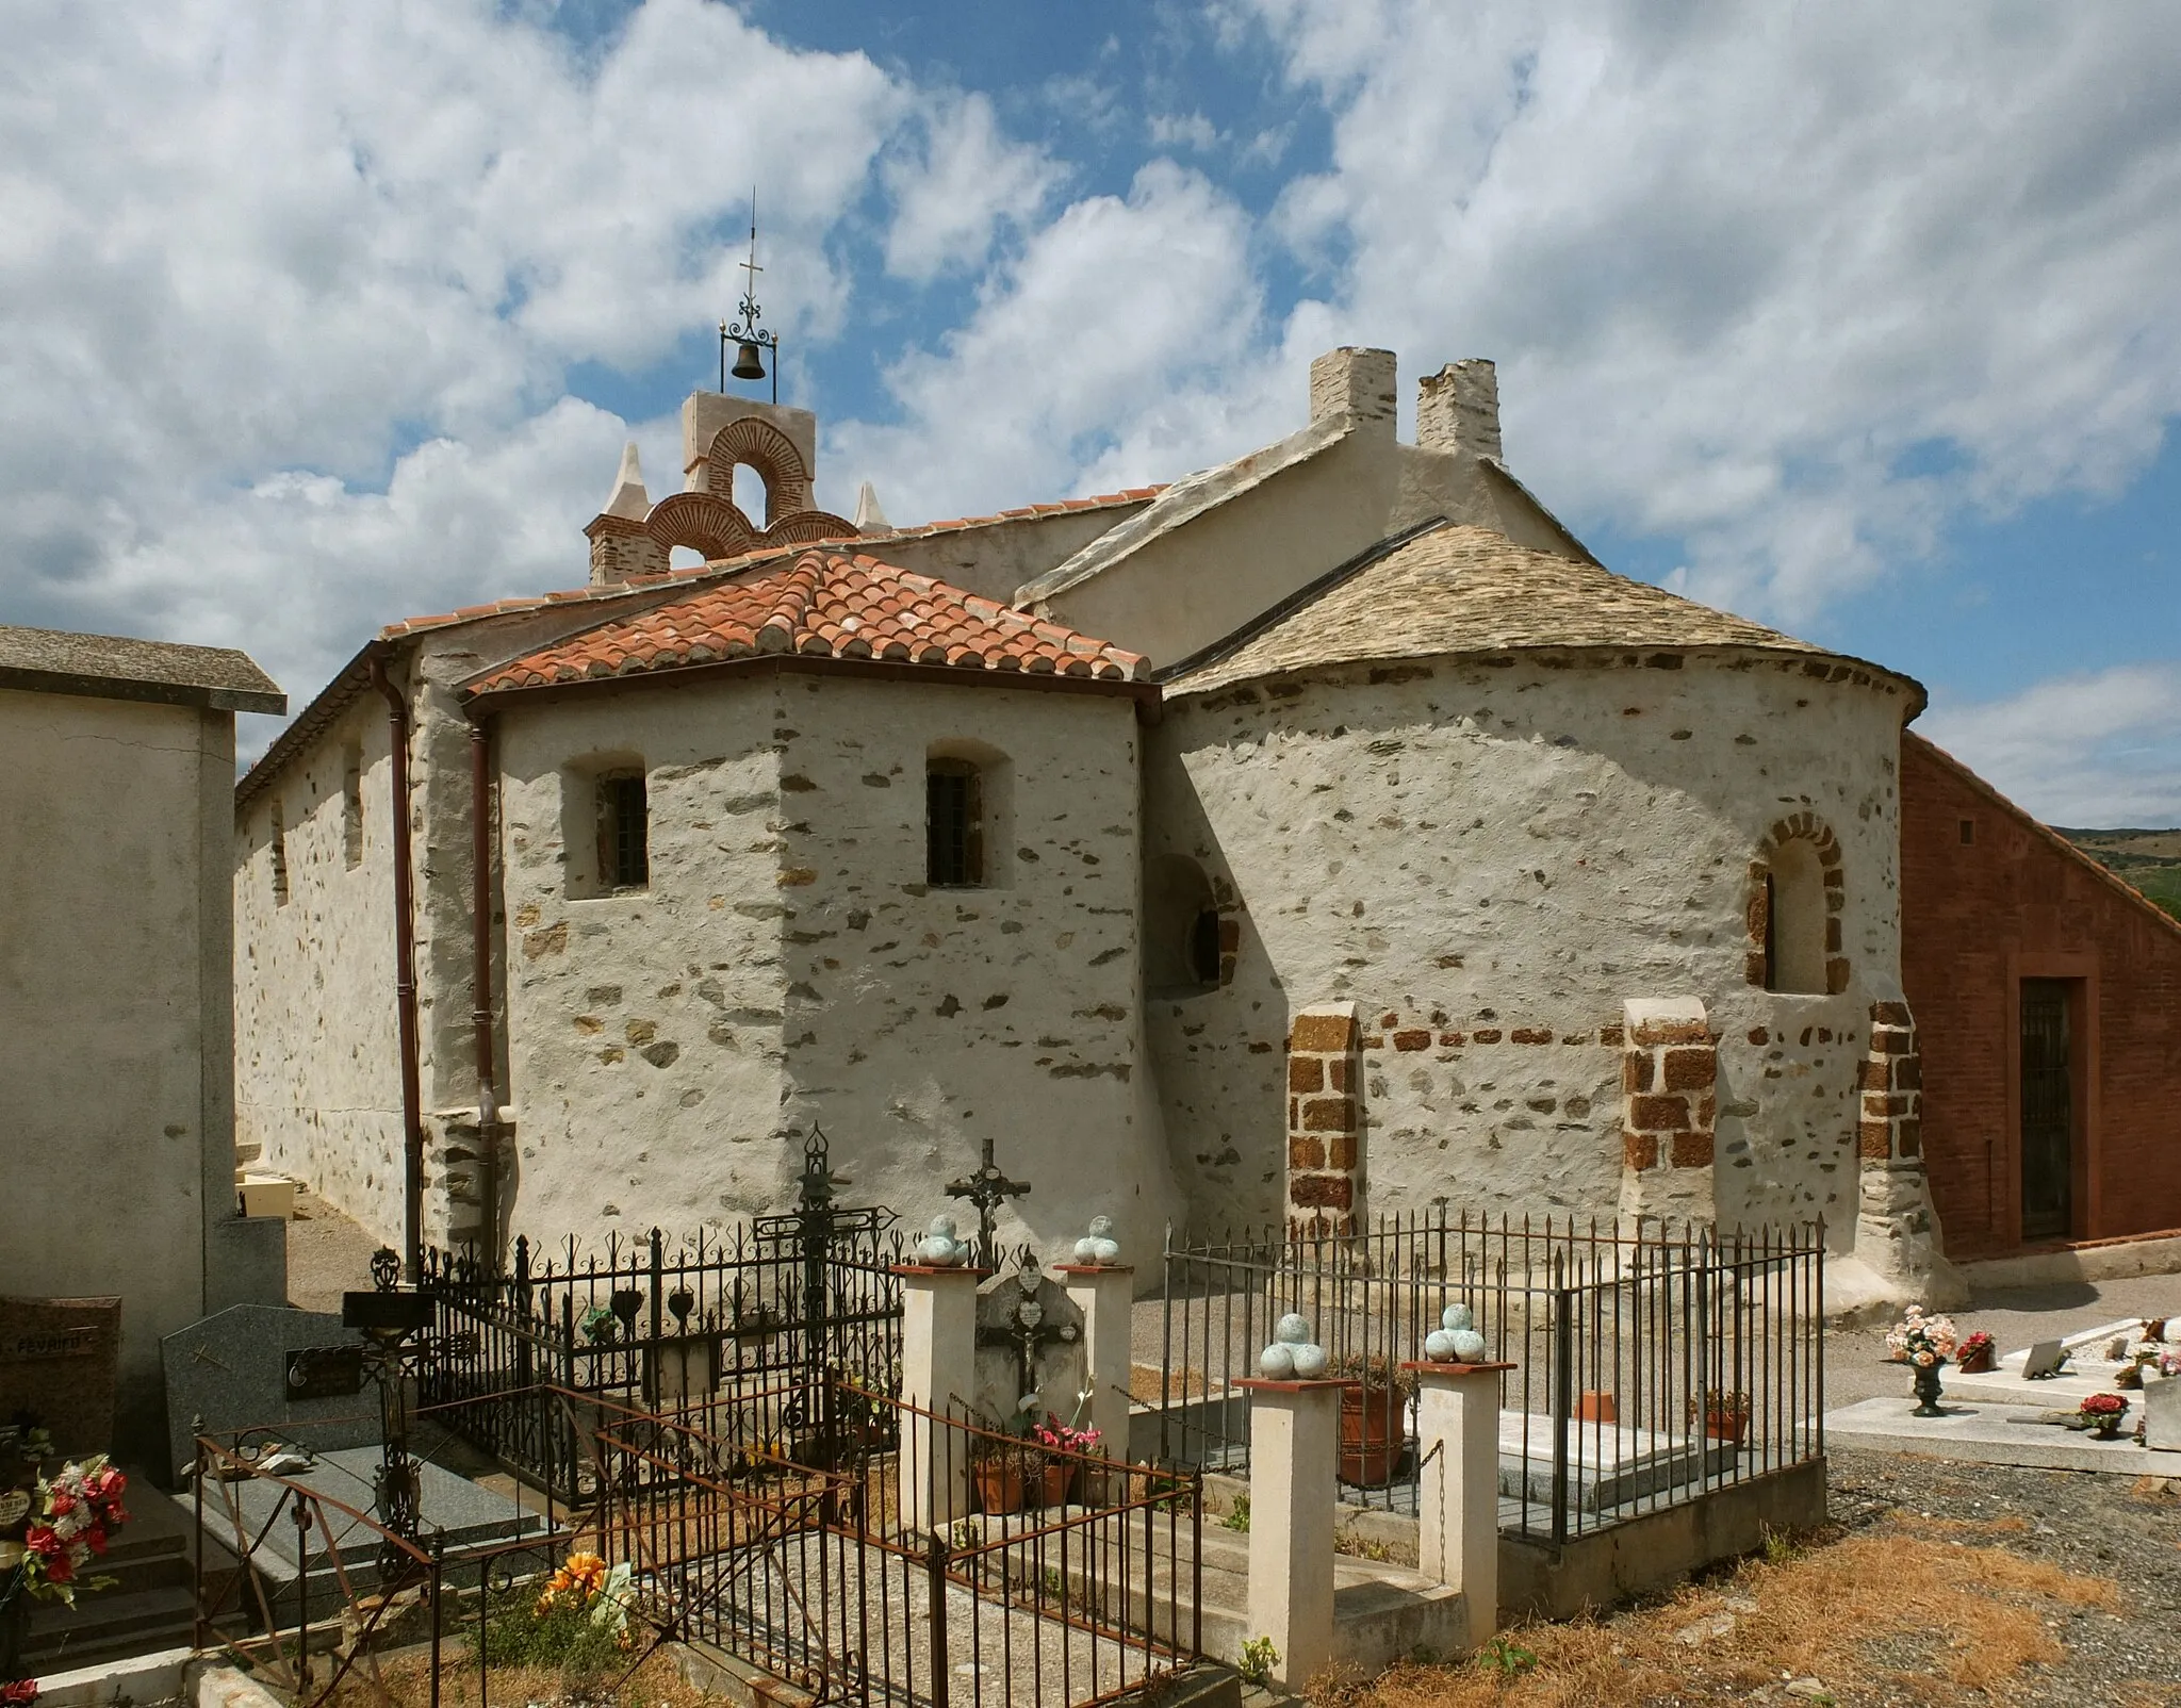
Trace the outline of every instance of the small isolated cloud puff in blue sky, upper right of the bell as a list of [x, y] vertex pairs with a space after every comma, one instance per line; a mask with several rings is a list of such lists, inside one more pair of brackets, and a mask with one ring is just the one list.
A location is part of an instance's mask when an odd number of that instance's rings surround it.
[[999, 229], [1029, 220], [1060, 179], [1043, 151], [1001, 135], [981, 94], [944, 103], [920, 129], [923, 146], [883, 168], [885, 270], [918, 284], [981, 266]]

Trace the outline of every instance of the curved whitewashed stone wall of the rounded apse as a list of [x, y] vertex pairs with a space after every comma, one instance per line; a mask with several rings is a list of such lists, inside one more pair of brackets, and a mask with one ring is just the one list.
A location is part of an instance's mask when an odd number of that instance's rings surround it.
[[[1658, 654], [1644, 654], [1658, 657]], [[1623, 1001], [1719, 1036], [1721, 1222], [1856, 1219], [1856, 1073], [1897, 997], [1902, 702], [1802, 659], [1520, 659], [1317, 672], [1169, 700], [1147, 855], [1195, 857], [1232, 982], [1149, 1003], [1197, 1219], [1282, 1215], [1285, 1034], [1357, 1001], [1367, 1213], [1612, 1217]], [[1845, 862], [1847, 988], [1745, 975], [1749, 862], [1788, 811]]]

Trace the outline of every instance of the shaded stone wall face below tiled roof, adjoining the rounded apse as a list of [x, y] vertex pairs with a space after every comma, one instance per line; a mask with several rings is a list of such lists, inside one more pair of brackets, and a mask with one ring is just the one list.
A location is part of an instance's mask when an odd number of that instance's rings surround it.
[[[1104, 694], [781, 678], [781, 1119], [833, 1134], [855, 1202], [962, 1206], [986, 1132], [1049, 1256], [1178, 1213], [1138, 1006], [1138, 724]], [[925, 759], [986, 772], [986, 883], [925, 883]], [[968, 1226], [964, 1222], [964, 1226]], [[1152, 1276], [1152, 1270], [1145, 1270]]]

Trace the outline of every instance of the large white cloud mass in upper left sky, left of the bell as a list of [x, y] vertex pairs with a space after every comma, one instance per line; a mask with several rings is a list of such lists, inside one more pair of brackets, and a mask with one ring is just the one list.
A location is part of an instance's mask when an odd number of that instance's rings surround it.
[[382, 622], [582, 580], [622, 428], [565, 373], [731, 308], [752, 181], [807, 345], [905, 127], [1047, 170], [702, 0], [589, 55], [491, 0], [17, 0], [9, 39], [0, 620], [242, 643], [297, 702]]

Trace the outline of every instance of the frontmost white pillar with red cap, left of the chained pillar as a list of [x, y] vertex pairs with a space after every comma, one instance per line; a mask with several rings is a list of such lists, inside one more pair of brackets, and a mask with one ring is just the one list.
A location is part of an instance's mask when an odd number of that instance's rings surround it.
[[1272, 1677], [1300, 1691], [1333, 1664], [1333, 1507], [1339, 1381], [1237, 1383], [1250, 1392], [1250, 1629], [1280, 1651]]

